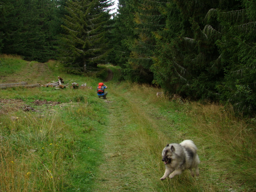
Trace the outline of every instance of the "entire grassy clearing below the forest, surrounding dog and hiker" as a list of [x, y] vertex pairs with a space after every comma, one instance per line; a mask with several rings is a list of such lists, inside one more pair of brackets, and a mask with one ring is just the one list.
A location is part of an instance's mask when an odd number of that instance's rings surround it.
[[[48, 67], [47, 67], [48, 65]], [[95, 87], [105, 79], [62, 72], [47, 64], [1, 57], [0, 83], [65, 82], [94, 88], [0, 90], [0, 191], [254, 191], [255, 124], [215, 104], [156, 98], [159, 89], [107, 82], [107, 101]], [[102, 67], [104, 69], [104, 67]], [[35, 105], [35, 100], [61, 102]], [[29, 105], [36, 111], [23, 111]], [[11, 118], [12, 116], [18, 119]], [[160, 181], [166, 143], [192, 139], [200, 176]]]

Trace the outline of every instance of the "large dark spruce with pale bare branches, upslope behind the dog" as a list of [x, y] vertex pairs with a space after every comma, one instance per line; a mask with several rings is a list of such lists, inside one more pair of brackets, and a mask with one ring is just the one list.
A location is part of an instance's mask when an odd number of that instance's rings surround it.
[[219, 34], [207, 36], [203, 30], [203, 18], [215, 5], [207, 1], [169, 1], [163, 9], [166, 27], [155, 34], [158, 48], [152, 70], [154, 82], [166, 92], [195, 99], [215, 99], [219, 95], [215, 82], [223, 78], [223, 71], [212, 67], [219, 56], [214, 45]]

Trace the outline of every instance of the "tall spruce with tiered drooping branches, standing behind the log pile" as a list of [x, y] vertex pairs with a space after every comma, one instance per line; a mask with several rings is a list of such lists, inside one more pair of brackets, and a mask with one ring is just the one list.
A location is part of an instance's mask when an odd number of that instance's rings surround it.
[[[107, 28], [110, 1], [69, 1], [62, 25], [60, 60], [65, 67], [86, 72], [102, 62], [109, 51]], [[69, 70], [70, 71], [70, 70]], [[74, 72], [74, 71], [73, 71]]]

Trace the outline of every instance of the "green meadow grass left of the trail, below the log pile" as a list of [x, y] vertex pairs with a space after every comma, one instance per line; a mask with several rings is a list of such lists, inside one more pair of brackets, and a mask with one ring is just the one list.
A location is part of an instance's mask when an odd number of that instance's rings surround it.
[[[62, 94], [69, 104], [0, 116], [0, 169], [5, 173], [0, 177], [1, 190], [84, 191], [92, 185], [101, 162], [97, 142], [102, 142], [104, 121], [98, 119], [105, 109], [92, 108], [93, 99], [89, 105], [80, 93]], [[18, 119], [12, 121], [11, 116]]]

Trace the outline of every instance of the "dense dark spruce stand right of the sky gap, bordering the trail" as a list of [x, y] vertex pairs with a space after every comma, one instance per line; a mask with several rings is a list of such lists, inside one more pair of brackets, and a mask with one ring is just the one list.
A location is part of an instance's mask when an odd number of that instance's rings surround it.
[[247, 0], [120, 0], [116, 63], [125, 79], [253, 115], [255, 8]]

